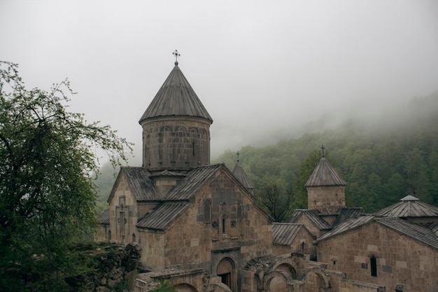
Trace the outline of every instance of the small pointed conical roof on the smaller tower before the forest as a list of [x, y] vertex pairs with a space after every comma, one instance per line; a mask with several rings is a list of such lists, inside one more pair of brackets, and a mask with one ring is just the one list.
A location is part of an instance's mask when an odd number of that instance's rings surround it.
[[311, 186], [346, 186], [347, 183], [334, 170], [332, 165], [323, 156], [316, 165], [309, 179], [306, 181], [305, 187]]

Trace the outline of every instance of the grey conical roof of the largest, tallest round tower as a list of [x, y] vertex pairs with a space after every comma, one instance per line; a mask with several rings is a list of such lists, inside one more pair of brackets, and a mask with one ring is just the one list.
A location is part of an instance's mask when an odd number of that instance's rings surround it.
[[147, 118], [160, 116], [192, 116], [205, 118], [213, 123], [209, 112], [197, 97], [178, 64], [175, 64], [148, 109], [141, 116], [139, 123]]

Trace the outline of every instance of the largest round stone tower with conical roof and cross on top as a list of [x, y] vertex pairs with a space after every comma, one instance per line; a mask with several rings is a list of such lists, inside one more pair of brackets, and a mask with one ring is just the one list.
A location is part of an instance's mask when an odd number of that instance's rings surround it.
[[[178, 58], [178, 51], [174, 55]], [[188, 171], [210, 164], [213, 119], [179, 69], [178, 59], [139, 123], [143, 167], [150, 172]]]

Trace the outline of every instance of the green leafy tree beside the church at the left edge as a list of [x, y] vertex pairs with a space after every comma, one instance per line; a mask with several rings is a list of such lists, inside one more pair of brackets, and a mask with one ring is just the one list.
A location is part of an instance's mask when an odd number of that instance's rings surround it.
[[[64, 91], [66, 93], [64, 93]], [[66, 111], [68, 81], [27, 90], [17, 65], [0, 62], [0, 291], [62, 291], [80, 273], [68, 247], [90, 230], [99, 171], [131, 149], [109, 126]]]

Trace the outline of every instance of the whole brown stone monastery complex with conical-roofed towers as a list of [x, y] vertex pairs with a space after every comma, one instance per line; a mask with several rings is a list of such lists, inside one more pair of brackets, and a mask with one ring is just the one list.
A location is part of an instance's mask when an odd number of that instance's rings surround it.
[[141, 246], [135, 291], [438, 291], [438, 208], [347, 208], [346, 182], [323, 157], [309, 209], [274, 223], [239, 161], [210, 165], [213, 119], [178, 62], [139, 123], [143, 165], [120, 169], [94, 235]]

